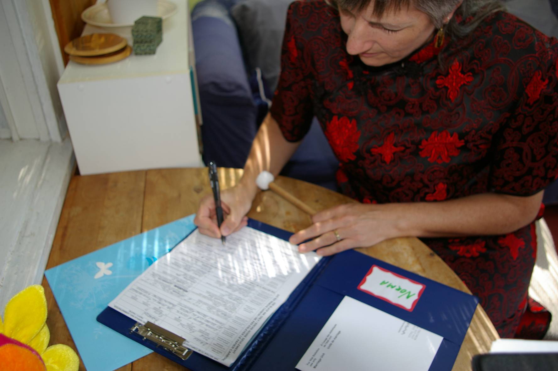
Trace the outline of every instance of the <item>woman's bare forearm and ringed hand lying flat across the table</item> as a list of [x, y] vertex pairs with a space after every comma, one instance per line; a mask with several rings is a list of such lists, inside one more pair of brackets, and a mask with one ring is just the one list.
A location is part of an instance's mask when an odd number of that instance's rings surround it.
[[507, 234], [535, 220], [542, 195], [484, 193], [440, 202], [345, 204], [314, 215], [314, 224], [289, 242], [314, 238], [299, 245], [299, 252], [326, 256], [395, 237]]

